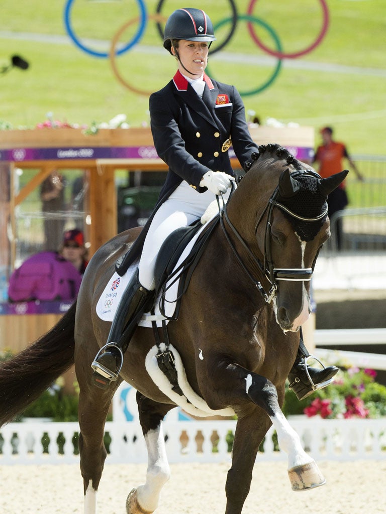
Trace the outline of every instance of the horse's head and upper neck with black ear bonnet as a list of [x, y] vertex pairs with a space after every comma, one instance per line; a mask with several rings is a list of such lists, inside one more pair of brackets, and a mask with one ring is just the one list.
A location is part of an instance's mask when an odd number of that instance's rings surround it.
[[249, 199], [255, 196], [254, 241], [247, 237], [247, 244], [261, 263], [265, 299], [273, 302], [285, 332], [296, 332], [311, 312], [312, 271], [330, 235], [327, 196], [347, 173], [322, 179], [287, 150], [268, 145], [240, 184], [248, 187]]

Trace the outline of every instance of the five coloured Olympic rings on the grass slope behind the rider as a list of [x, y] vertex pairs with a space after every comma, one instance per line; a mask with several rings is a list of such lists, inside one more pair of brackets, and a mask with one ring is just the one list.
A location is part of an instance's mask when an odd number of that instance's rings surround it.
[[[71, 38], [73, 43], [83, 52], [89, 54], [91, 57], [94, 58], [101, 58], [101, 59], [109, 59], [114, 75], [117, 78], [117, 80], [127, 89], [131, 90], [133, 93], [136, 93], [138, 95], [143, 96], [149, 96], [153, 91], [149, 90], [143, 90], [138, 87], [134, 87], [133, 85], [129, 84], [127, 80], [125, 80], [117, 67], [116, 58], [121, 56], [122, 54], [130, 51], [133, 49], [136, 45], [141, 42], [147, 26], [148, 22], [154, 22], [156, 26], [156, 32], [159, 34], [161, 41], [163, 41], [163, 25], [165, 24], [167, 20], [167, 16], [162, 14], [162, 10], [164, 8], [165, 0], [159, 0], [159, 2], [156, 5], [155, 13], [149, 14], [147, 7], [145, 5], [144, 0], [135, 0], [137, 9], [138, 9], [138, 16], [132, 17], [129, 21], [122, 24], [118, 30], [115, 32], [110, 46], [110, 51], [99, 51], [96, 49], [93, 49], [90, 46], [87, 46], [79, 36], [75, 33], [75, 30], [72, 26], [72, 10], [74, 7], [76, 0], [66, 0], [65, 6], [64, 6], [64, 26], [66, 29], [66, 32], [68, 36]], [[312, 2], [315, 0], [308, 0], [309, 2]], [[267, 89], [269, 86], [272, 85], [274, 80], [279, 75], [280, 69], [282, 68], [282, 61], [283, 59], [296, 59], [302, 56], [305, 56], [307, 53], [311, 52], [315, 48], [317, 48], [321, 42], [323, 41], [326, 32], [328, 30], [329, 25], [329, 14], [328, 14], [328, 7], [326, 4], [326, 0], [317, 0], [317, 2], [320, 4], [320, 7], [322, 9], [322, 26], [317, 34], [316, 38], [312, 41], [311, 44], [306, 46], [305, 48], [302, 48], [300, 50], [294, 51], [294, 52], [285, 52], [283, 49], [283, 45], [279, 40], [279, 37], [277, 33], [274, 31], [274, 29], [264, 20], [262, 20], [260, 17], [257, 17], [254, 14], [258, 0], [251, 0], [247, 12], [245, 14], [239, 14], [237, 11], [237, 7], [235, 4], [235, 0], [227, 0], [227, 3], [229, 3], [229, 8], [231, 12], [231, 16], [224, 17], [220, 22], [217, 24], [214, 24], [214, 30], [215, 33], [218, 29], [223, 28], [224, 26], [229, 27], [225, 35], [222, 36], [222, 39], [217, 40], [215, 45], [213, 45], [213, 48], [210, 48], [209, 50], [209, 56], [213, 55], [217, 52], [220, 52], [224, 48], [227, 47], [227, 45], [230, 44], [232, 41], [232, 38], [238, 28], [239, 22], [247, 22], [247, 29], [248, 33], [251, 36], [252, 43], [258, 47], [260, 50], [265, 52], [271, 57], [275, 57], [277, 59], [276, 65], [272, 71], [271, 76], [262, 84], [258, 85], [257, 87], [254, 87], [250, 90], [240, 90], [240, 95], [245, 96], [251, 96], [256, 95], [258, 93], [261, 93], [265, 89]], [[283, 10], [283, 7], [280, 6], [280, 10]], [[136, 27], [136, 30], [134, 34], [132, 35], [131, 39], [127, 42], [125, 42], [119, 49], [117, 49], [119, 38], [122, 36], [122, 34], [127, 30], [129, 27]], [[262, 42], [261, 38], [256, 33], [256, 27], [264, 29], [271, 40], [272, 47], [267, 46], [264, 42]], [[209, 67], [206, 69], [207, 74], [212, 77], [216, 78], [211, 72]], [[146, 80], [144, 80], [146, 82]]]

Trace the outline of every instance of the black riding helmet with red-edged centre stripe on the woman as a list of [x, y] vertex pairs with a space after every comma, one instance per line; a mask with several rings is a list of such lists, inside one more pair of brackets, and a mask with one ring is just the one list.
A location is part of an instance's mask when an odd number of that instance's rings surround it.
[[164, 31], [164, 47], [171, 53], [172, 40], [215, 41], [209, 16], [201, 9], [177, 9], [168, 17]]

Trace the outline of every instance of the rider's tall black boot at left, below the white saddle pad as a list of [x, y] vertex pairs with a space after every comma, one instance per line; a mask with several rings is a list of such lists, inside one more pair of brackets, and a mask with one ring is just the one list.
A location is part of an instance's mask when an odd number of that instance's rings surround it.
[[145, 289], [139, 282], [137, 269], [119, 302], [107, 338], [108, 342], [100, 348], [91, 364], [94, 370], [93, 381], [95, 386], [106, 389], [111, 382], [118, 378], [124, 361], [124, 353], [137, 323], [145, 311], [150, 293], [151, 291]]

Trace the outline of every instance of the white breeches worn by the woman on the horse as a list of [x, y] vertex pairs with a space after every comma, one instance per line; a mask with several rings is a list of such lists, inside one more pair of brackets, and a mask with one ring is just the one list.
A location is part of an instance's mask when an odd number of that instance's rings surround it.
[[[229, 197], [228, 189], [224, 198]], [[139, 261], [139, 282], [148, 290], [155, 287], [154, 266], [157, 254], [166, 237], [180, 227], [187, 227], [206, 211], [215, 195], [208, 191], [199, 193], [183, 180], [169, 198], [160, 206], [146, 234], [141, 260]]]

